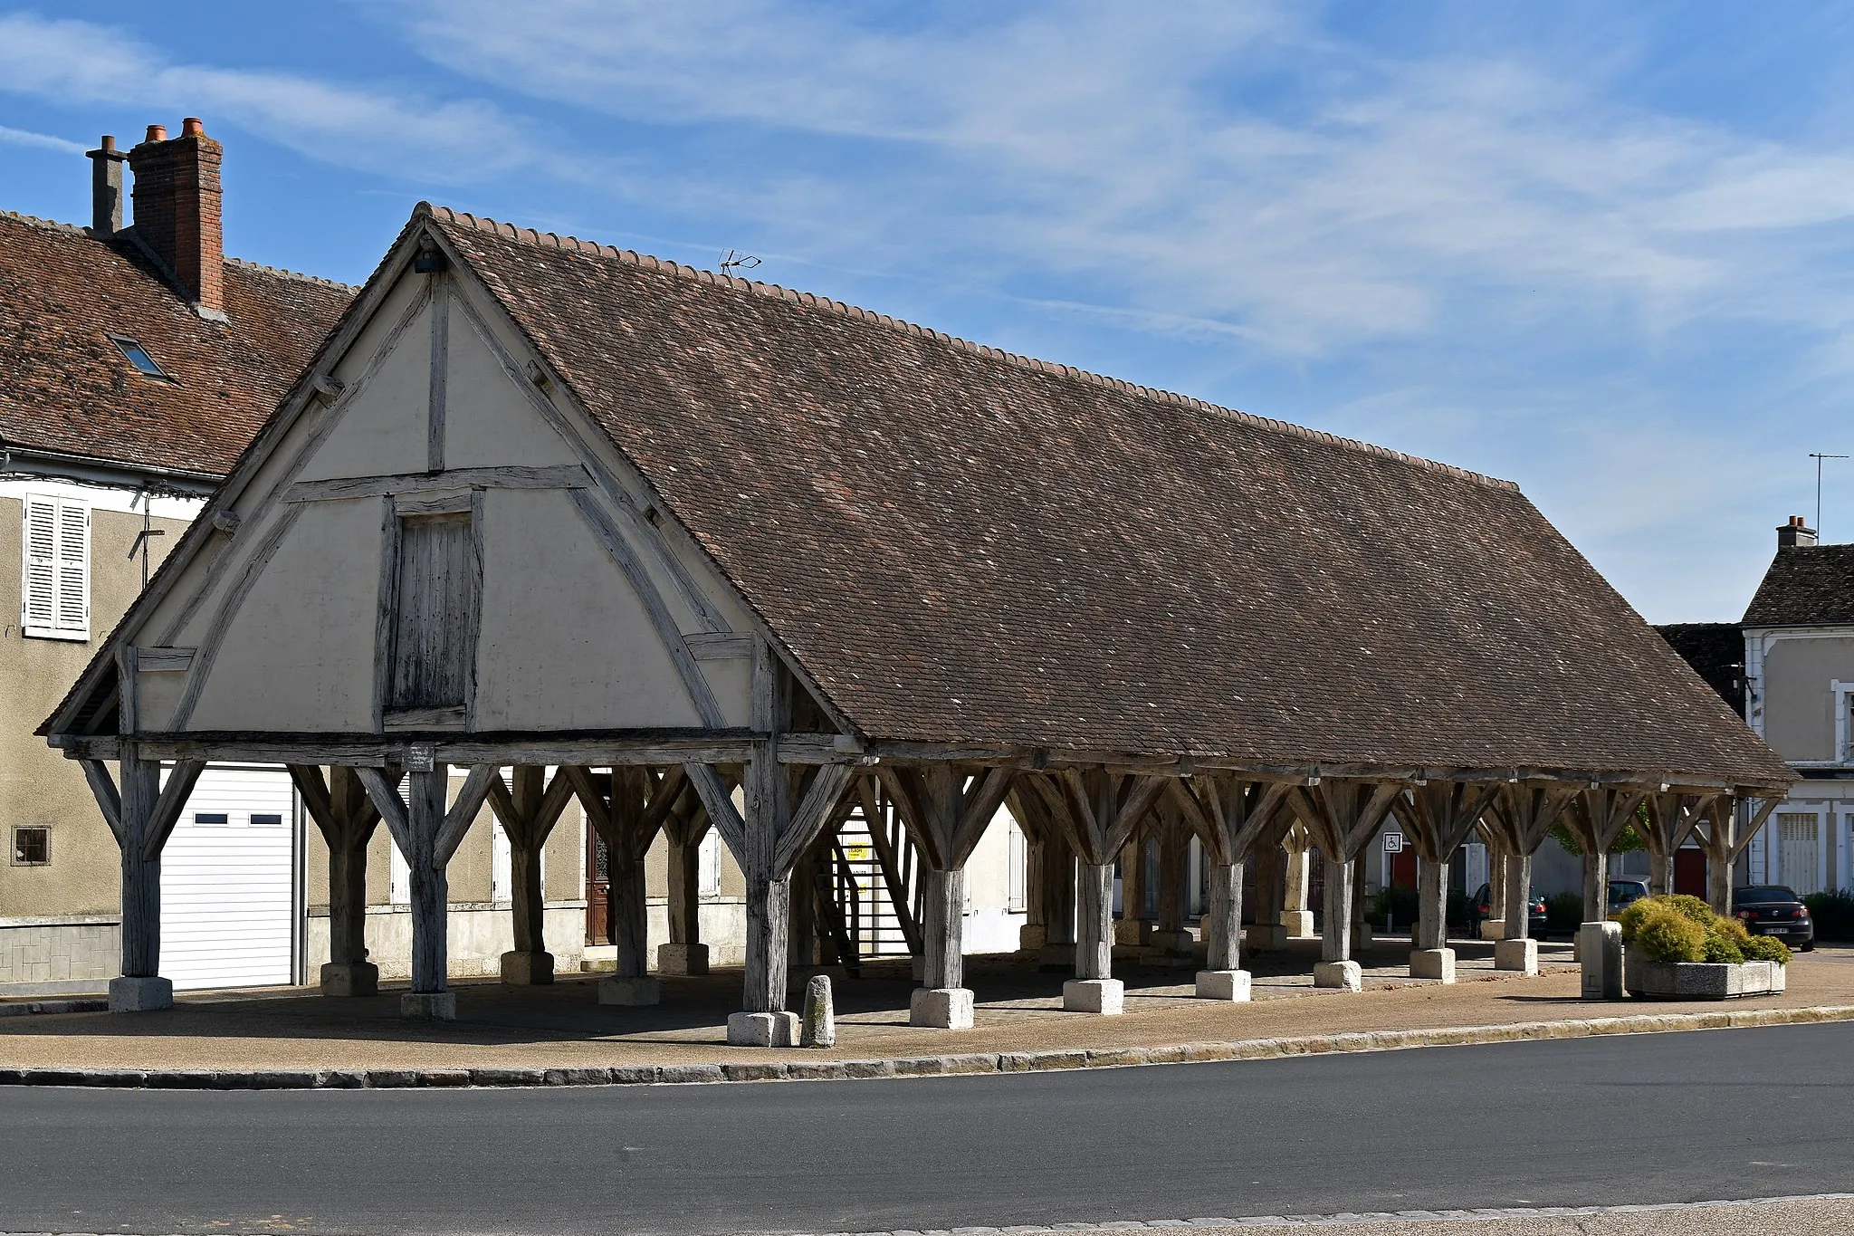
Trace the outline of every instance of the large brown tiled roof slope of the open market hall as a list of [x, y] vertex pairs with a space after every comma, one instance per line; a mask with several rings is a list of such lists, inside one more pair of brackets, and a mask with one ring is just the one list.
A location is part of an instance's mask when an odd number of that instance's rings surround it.
[[1791, 778], [1507, 482], [421, 209], [870, 738]]

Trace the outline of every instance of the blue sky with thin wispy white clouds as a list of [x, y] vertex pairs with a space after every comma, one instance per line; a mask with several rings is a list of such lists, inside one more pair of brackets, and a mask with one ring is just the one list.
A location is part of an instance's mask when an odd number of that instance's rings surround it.
[[198, 115], [241, 258], [360, 282], [419, 198], [738, 248], [1513, 478], [1735, 619], [1854, 454], [1850, 87], [1806, 4], [0, 0], [0, 208], [83, 222], [98, 133]]

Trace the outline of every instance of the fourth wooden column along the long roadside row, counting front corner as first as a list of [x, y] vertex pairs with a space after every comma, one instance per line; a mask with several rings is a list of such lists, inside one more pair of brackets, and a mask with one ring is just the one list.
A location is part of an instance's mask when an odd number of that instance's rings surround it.
[[1203, 915], [1205, 969], [1198, 971], [1198, 999], [1250, 999], [1250, 975], [1242, 969], [1240, 947], [1242, 858], [1274, 830], [1287, 793], [1285, 782], [1244, 782], [1227, 773], [1198, 773], [1172, 784], [1172, 799], [1185, 826], [1203, 843], [1211, 880], [1211, 904]]

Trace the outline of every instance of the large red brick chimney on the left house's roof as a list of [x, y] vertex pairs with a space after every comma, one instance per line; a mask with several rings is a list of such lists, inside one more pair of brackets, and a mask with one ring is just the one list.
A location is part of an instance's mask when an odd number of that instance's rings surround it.
[[167, 263], [202, 317], [224, 317], [224, 235], [219, 226], [219, 161], [224, 146], [187, 117], [180, 137], [148, 126], [128, 152], [135, 172], [135, 235]]

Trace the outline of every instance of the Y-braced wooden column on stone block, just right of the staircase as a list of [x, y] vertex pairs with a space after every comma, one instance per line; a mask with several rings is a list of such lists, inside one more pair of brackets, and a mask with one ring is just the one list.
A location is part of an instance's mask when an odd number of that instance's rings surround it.
[[951, 763], [910, 767], [888, 762], [875, 771], [925, 864], [921, 873], [925, 986], [908, 997], [908, 1023], [970, 1030], [966, 860], [1010, 793], [1012, 771], [955, 769]]

